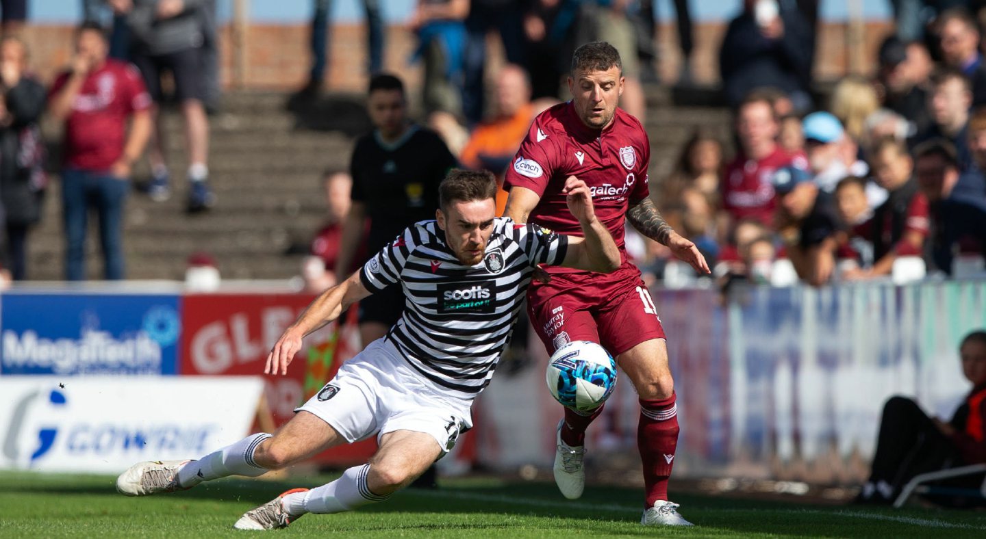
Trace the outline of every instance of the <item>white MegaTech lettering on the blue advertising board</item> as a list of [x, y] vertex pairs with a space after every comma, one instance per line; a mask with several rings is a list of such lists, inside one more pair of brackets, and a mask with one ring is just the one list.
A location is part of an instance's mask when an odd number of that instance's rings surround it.
[[4, 371], [50, 370], [56, 374], [100, 371], [160, 372], [161, 345], [145, 331], [115, 338], [83, 329], [79, 339], [47, 339], [33, 330], [3, 332]]

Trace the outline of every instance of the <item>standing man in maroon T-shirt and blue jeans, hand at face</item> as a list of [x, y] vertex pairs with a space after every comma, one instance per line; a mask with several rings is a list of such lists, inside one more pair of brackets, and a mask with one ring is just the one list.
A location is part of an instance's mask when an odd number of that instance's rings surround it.
[[130, 168], [151, 134], [151, 98], [140, 73], [130, 64], [107, 58], [107, 53], [103, 28], [83, 24], [75, 33], [70, 69], [58, 76], [49, 93], [48, 112], [65, 122], [62, 209], [69, 281], [86, 278], [90, 208], [99, 213], [105, 277], [123, 278], [123, 205], [130, 190]]

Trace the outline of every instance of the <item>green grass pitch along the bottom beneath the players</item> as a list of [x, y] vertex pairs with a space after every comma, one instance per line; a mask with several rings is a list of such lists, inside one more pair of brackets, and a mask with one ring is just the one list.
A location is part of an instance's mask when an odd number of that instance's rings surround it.
[[[113, 478], [0, 472], [0, 537], [223, 537], [247, 509], [316, 486], [229, 479], [174, 495], [125, 498]], [[640, 492], [594, 487], [578, 502], [551, 484], [450, 480], [359, 511], [306, 515], [276, 533], [298, 537], [986, 537], [986, 512], [863, 509], [674, 496], [697, 526], [640, 526]]]

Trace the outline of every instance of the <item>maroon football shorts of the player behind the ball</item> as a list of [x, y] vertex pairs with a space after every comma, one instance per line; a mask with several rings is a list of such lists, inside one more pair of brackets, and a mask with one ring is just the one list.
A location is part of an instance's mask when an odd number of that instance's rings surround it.
[[665, 338], [640, 270], [629, 262], [610, 274], [559, 273], [547, 284], [531, 281], [528, 313], [548, 354], [570, 341], [593, 341], [615, 357]]

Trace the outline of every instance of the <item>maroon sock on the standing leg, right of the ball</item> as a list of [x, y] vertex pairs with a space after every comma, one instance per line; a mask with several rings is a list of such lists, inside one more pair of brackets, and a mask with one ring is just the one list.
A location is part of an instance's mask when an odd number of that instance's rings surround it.
[[637, 447], [644, 464], [645, 508], [668, 500], [668, 478], [677, 447], [677, 407], [674, 394], [667, 399], [640, 399]]

